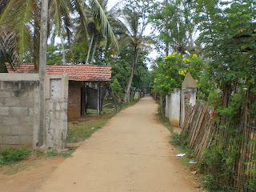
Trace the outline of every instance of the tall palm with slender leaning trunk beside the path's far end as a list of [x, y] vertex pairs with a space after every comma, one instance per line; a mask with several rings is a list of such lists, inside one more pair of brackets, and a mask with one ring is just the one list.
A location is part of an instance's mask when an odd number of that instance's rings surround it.
[[150, 46], [146, 45], [146, 43], [149, 42], [150, 37], [143, 36], [143, 33], [147, 25], [145, 15], [138, 13], [138, 11], [130, 7], [126, 7], [126, 9], [122, 12], [122, 18], [124, 20], [124, 25], [126, 26], [126, 33], [122, 35], [121, 43], [128, 46], [132, 46], [134, 48], [134, 61], [132, 70], [130, 72], [129, 82], [126, 86], [126, 94], [124, 98], [125, 102], [128, 102], [130, 87], [134, 78], [134, 71], [138, 61], [139, 50], [142, 48], [150, 49]]

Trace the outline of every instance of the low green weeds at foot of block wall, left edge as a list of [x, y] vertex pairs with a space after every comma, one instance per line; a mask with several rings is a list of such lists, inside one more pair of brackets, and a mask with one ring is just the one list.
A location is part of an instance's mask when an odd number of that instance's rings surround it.
[[5, 147], [0, 150], [0, 166], [10, 165], [22, 160], [30, 155], [30, 150], [26, 148], [16, 149], [14, 147]]

